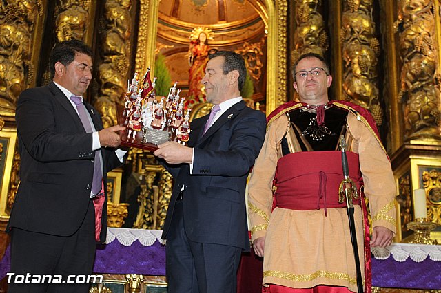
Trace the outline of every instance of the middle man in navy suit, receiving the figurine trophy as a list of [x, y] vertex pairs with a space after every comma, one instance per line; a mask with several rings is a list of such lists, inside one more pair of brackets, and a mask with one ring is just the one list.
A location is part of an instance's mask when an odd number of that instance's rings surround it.
[[245, 186], [265, 137], [265, 115], [240, 97], [246, 74], [239, 54], [209, 55], [201, 82], [212, 112], [192, 122], [188, 146], [154, 152], [175, 179], [163, 229], [171, 293], [236, 292], [249, 250]]

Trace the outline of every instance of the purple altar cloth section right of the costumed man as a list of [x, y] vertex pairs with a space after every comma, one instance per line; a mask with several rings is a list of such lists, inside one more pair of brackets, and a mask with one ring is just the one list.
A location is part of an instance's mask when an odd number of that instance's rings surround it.
[[375, 287], [407, 289], [441, 289], [441, 261], [427, 257], [417, 263], [412, 259], [395, 261], [392, 255], [385, 260], [372, 256], [372, 285]]

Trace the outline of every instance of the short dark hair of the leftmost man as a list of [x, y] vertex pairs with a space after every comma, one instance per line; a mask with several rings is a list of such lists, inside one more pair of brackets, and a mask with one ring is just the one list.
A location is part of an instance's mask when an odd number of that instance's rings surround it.
[[60, 62], [64, 66], [68, 66], [74, 61], [76, 54], [79, 53], [92, 57], [92, 50], [88, 45], [83, 43], [83, 41], [72, 39], [70, 41], [55, 44], [49, 56], [49, 70], [51, 77], [53, 78], [55, 75], [55, 63]]

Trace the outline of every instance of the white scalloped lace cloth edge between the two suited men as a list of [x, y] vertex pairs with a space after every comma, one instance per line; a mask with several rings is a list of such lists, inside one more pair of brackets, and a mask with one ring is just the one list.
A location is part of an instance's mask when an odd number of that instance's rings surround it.
[[136, 240], [143, 246], [152, 246], [156, 240], [164, 244], [165, 240], [161, 239], [162, 232], [161, 230], [107, 228], [105, 244], [109, 244], [115, 239], [118, 239], [123, 246], [131, 246]]

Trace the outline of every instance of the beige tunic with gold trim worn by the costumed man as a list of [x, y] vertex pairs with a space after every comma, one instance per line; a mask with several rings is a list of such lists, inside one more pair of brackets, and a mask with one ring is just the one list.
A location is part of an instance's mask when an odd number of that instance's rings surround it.
[[[359, 154], [360, 169], [369, 199], [373, 226], [396, 231], [396, 184], [391, 164], [369, 125], [349, 113], [347, 124], [353, 142], [348, 150]], [[249, 220], [252, 241], [265, 238], [263, 284], [307, 288], [316, 285], [348, 287], [356, 292], [356, 268], [346, 208], [289, 210], [275, 208], [272, 181], [281, 140], [288, 126], [286, 115], [274, 119], [249, 180]], [[295, 166], [293, 166], [295, 167]], [[360, 263], [364, 260], [362, 210], [355, 206]], [[364, 268], [362, 268], [363, 283]]]

